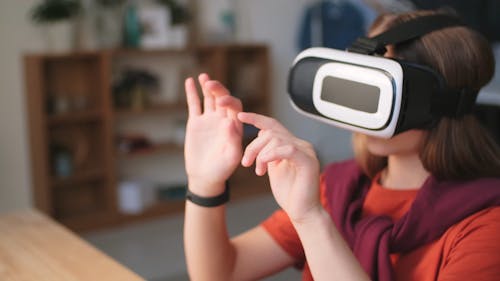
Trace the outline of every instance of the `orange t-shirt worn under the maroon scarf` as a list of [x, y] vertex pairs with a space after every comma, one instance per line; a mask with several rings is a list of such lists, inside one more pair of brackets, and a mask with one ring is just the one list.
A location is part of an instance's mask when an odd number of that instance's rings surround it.
[[[322, 181], [321, 190], [325, 188]], [[417, 192], [386, 189], [375, 178], [363, 205], [363, 216], [387, 215], [398, 220]], [[321, 202], [329, 210], [323, 194]], [[432, 216], [432, 210], [428, 215]], [[302, 279], [312, 280], [299, 236], [287, 214], [276, 211], [262, 226], [297, 266], [304, 266]], [[500, 280], [500, 207], [477, 212], [451, 226], [434, 242], [405, 254], [391, 254], [391, 260], [396, 280]]]

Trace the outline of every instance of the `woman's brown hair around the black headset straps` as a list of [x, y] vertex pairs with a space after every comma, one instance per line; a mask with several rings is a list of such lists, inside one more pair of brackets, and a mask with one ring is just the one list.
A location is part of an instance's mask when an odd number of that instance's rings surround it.
[[[437, 11], [414, 11], [379, 16], [371, 32], [381, 32], [401, 22]], [[495, 62], [489, 42], [467, 27], [448, 27], [419, 39], [393, 46], [394, 54], [407, 61], [427, 65], [443, 75], [452, 88], [479, 90], [493, 77]], [[365, 137], [355, 134], [355, 157], [365, 173], [373, 177], [387, 166], [387, 157], [367, 151]], [[427, 130], [420, 159], [439, 180], [467, 180], [500, 176], [500, 148], [472, 114], [442, 118]]]

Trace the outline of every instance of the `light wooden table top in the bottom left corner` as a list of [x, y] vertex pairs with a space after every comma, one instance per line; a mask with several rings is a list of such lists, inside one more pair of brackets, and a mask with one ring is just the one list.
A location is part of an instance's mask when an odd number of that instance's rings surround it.
[[37, 211], [0, 215], [2, 281], [138, 281], [137, 274]]

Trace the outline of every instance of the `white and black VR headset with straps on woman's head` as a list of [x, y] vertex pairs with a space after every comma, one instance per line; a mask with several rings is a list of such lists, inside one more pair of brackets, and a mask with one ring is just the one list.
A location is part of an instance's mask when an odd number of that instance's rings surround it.
[[430, 67], [383, 57], [386, 45], [461, 25], [449, 15], [424, 16], [358, 38], [347, 51], [306, 49], [288, 76], [292, 105], [308, 117], [381, 138], [471, 113], [478, 90], [451, 89]]

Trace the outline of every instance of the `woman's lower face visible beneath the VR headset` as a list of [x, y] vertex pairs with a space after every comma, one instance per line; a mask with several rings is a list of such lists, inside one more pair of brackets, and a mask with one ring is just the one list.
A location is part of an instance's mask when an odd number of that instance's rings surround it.
[[381, 157], [416, 154], [420, 151], [425, 134], [423, 130], [409, 130], [390, 139], [365, 136], [366, 148], [371, 154]]

